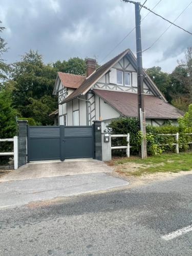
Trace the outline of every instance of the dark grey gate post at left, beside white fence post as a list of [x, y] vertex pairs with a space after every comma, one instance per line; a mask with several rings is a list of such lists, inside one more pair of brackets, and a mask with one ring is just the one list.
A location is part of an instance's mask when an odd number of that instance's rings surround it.
[[18, 167], [27, 163], [27, 120], [18, 123]]

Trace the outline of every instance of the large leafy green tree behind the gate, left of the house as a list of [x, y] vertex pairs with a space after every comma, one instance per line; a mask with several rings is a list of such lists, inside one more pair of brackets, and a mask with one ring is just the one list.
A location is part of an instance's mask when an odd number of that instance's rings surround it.
[[12, 80], [7, 86], [13, 87], [13, 105], [22, 117], [32, 117], [45, 125], [53, 123], [48, 114], [57, 108], [57, 98], [52, 96], [55, 78], [55, 69], [51, 64], [45, 65], [37, 51], [30, 50], [13, 64]]

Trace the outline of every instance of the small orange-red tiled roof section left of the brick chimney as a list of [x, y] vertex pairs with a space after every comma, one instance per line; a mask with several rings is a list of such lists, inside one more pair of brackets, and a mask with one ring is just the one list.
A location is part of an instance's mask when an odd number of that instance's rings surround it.
[[62, 72], [58, 72], [58, 76], [63, 86], [75, 89], [79, 88], [81, 83], [86, 79], [86, 76], [67, 74]]

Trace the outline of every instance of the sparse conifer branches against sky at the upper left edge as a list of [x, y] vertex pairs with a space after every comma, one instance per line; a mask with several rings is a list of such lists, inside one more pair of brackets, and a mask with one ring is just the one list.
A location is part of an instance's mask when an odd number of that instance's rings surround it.
[[[0, 24], [2, 22], [0, 21]], [[1, 27], [0, 26], [0, 32], [3, 32], [5, 29], [5, 27]], [[5, 41], [4, 38], [2, 38], [0, 36], [0, 80], [1, 81], [5, 81], [7, 79], [7, 76], [11, 70], [10, 65], [8, 65], [7, 63], [5, 63], [5, 59], [3, 59], [3, 54], [5, 52], [7, 52], [8, 48], [7, 48], [7, 42]], [[0, 83], [0, 88], [3, 87], [3, 83]]]

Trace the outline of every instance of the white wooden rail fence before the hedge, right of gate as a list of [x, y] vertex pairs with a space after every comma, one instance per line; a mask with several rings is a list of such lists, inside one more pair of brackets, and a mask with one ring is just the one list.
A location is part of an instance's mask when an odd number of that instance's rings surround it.
[[[160, 144], [160, 146], [168, 146], [168, 145], [173, 145], [173, 146], [176, 146], [176, 153], [179, 154], [179, 133], [176, 133], [176, 134], [159, 134], [161, 136], [175, 136], [176, 138], [176, 142], [177, 143], [172, 143], [172, 144], [168, 144], [168, 143], [165, 143], [165, 144]], [[191, 135], [192, 136], [192, 133], [185, 133], [185, 135]], [[126, 141], [127, 141], [127, 145], [126, 146], [112, 146], [111, 149], [112, 150], [120, 150], [122, 148], [126, 148], [126, 156], [127, 157], [130, 157], [130, 134], [112, 134], [111, 135], [111, 138], [123, 138], [123, 137], [126, 137]], [[187, 144], [192, 144], [192, 141], [188, 142]]]

